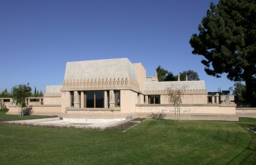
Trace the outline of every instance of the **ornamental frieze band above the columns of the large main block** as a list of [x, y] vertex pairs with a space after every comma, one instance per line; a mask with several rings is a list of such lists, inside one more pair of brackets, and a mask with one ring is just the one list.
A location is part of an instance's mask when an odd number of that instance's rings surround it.
[[139, 83], [131, 78], [63, 80], [63, 88], [69, 87], [135, 87], [138, 89]]

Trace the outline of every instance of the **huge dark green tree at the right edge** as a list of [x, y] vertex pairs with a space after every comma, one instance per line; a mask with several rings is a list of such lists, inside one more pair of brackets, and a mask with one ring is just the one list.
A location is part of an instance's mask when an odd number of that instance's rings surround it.
[[256, 103], [256, 1], [220, 0], [199, 24], [190, 45], [205, 57], [205, 72], [234, 82], [245, 81], [247, 100]]

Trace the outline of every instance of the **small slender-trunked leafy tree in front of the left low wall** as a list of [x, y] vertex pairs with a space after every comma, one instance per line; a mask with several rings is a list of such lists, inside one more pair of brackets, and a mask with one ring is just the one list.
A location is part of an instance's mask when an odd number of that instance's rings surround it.
[[23, 116], [23, 111], [26, 108], [26, 99], [32, 95], [29, 83], [28, 85], [14, 86], [11, 93], [13, 94], [13, 103], [15, 106], [21, 108], [21, 110], [18, 111], [18, 115]]

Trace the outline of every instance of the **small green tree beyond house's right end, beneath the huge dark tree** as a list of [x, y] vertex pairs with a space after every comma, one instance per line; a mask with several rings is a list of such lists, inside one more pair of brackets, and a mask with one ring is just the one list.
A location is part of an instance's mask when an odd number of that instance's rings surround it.
[[241, 82], [234, 83], [234, 89], [233, 87], [229, 88], [230, 91], [232, 91], [232, 94], [236, 96], [238, 99], [237, 101], [246, 101], [246, 87]]

